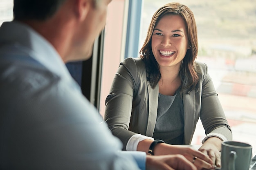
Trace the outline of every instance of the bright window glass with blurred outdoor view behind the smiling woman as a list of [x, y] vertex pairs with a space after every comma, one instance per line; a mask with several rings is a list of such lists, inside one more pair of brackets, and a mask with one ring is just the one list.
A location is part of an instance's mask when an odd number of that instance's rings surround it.
[[[144, 0], [140, 48], [153, 13], [169, 0]], [[209, 67], [233, 140], [253, 146], [256, 154], [256, 1], [178, 0], [195, 15], [198, 61]], [[205, 137], [198, 123], [192, 144]]]

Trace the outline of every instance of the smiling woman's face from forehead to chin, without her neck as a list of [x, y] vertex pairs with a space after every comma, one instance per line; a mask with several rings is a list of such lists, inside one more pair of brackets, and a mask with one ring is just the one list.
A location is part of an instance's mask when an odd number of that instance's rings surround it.
[[165, 15], [155, 26], [152, 35], [152, 51], [162, 67], [178, 66], [189, 49], [185, 22], [179, 15]]

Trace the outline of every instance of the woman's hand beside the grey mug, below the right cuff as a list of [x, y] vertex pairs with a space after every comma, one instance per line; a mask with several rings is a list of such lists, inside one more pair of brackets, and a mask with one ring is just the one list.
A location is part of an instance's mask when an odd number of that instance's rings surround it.
[[207, 141], [198, 149], [205, 155], [209, 155], [213, 163], [217, 166], [221, 166], [220, 150], [222, 140], [218, 137], [209, 137]]

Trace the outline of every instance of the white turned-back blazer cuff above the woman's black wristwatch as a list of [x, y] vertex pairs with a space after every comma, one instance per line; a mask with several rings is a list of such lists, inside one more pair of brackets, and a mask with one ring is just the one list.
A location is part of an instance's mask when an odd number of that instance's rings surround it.
[[132, 137], [130, 137], [130, 139], [128, 140], [128, 142], [126, 144], [126, 150], [137, 151], [137, 146], [138, 146], [139, 142], [143, 141], [145, 139], [150, 139], [152, 141], [155, 140], [153, 137], [148, 137], [148, 136], [144, 136], [141, 134], [132, 135]]

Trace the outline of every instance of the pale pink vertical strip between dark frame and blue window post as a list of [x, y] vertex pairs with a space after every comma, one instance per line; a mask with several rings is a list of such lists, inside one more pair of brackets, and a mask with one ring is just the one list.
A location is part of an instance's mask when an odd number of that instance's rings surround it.
[[127, 0], [112, 0], [108, 5], [99, 107], [99, 112], [103, 117], [105, 113], [105, 99], [110, 91], [119, 63], [124, 59], [128, 11], [127, 2]]

